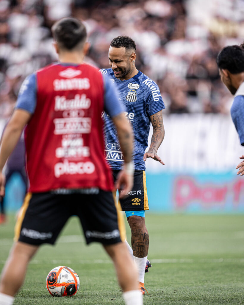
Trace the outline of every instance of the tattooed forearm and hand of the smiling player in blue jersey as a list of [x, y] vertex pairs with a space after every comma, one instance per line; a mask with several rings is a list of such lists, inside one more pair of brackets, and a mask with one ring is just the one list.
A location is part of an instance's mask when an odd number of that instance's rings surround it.
[[164, 124], [163, 124], [163, 114], [162, 110], [150, 116], [151, 123], [153, 125], [153, 135], [151, 139], [151, 145], [147, 152], [144, 153], [143, 160], [146, 161], [147, 158], [152, 158], [159, 161], [164, 165], [164, 162], [157, 155], [157, 150], [164, 139]]

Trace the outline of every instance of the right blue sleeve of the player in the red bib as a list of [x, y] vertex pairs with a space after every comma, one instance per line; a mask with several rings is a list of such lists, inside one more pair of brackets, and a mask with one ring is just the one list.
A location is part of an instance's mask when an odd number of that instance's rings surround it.
[[118, 99], [115, 86], [107, 76], [104, 74], [102, 76], [104, 81], [104, 110], [110, 117], [115, 117], [126, 110]]

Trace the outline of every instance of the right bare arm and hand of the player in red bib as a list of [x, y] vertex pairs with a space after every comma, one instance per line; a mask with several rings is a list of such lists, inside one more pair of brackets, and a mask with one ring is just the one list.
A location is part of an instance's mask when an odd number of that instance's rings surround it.
[[112, 118], [117, 129], [119, 144], [124, 156], [124, 168], [119, 172], [115, 188], [120, 191], [119, 197], [126, 196], [133, 187], [134, 164], [132, 163], [133, 133], [132, 128], [126, 120], [125, 113]]

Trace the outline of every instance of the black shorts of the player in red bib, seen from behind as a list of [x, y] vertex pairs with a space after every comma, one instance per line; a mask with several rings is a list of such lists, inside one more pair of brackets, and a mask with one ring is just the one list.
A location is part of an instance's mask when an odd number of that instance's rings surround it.
[[[31, 245], [54, 244], [66, 221], [77, 215], [87, 244], [121, 242], [120, 224], [112, 192], [83, 189], [27, 193], [15, 227], [15, 240]], [[95, 192], [95, 193], [94, 193]]]

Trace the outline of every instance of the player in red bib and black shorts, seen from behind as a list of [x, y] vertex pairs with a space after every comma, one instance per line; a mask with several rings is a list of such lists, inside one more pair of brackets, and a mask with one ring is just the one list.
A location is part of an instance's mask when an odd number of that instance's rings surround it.
[[125, 192], [133, 185], [131, 127], [109, 79], [83, 63], [88, 49], [83, 23], [64, 18], [54, 24], [52, 33], [59, 62], [26, 78], [2, 137], [0, 187], [3, 166], [27, 125], [30, 188], [2, 274], [0, 305], [13, 303], [31, 257], [41, 244], [55, 243], [72, 215], [80, 218], [87, 244], [101, 242], [112, 258], [126, 304], [141, 305], [137, 271], [121, 241], [113, 178], [104, 159], [101, 113], [109, 113], [117, 128], [125, 166], [115, 187]]

